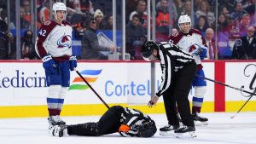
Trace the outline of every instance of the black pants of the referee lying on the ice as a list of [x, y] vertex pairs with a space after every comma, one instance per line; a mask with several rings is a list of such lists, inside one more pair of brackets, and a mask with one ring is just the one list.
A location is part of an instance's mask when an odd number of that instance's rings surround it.
[[68, 135], [108, 135], [118, 132], [121, 125], [121, 114], [124, 112], [124, 107], [110, 107], [105, 112], [97, 123], [75, 124], [67, 126]]

